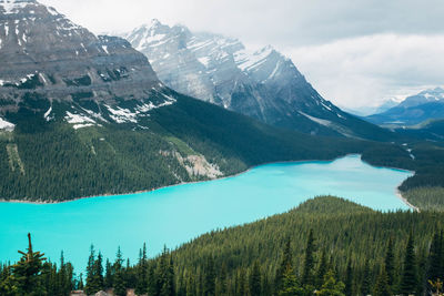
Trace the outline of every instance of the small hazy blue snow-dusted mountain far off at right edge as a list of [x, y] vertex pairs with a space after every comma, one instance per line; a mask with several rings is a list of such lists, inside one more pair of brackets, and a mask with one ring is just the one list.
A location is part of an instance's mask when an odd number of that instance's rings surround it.
[[386, 126], [411, 126], [428, 120], [444, 119], [444, 90], [441, 88], [425, 90], [382, 113], [365, 119]]

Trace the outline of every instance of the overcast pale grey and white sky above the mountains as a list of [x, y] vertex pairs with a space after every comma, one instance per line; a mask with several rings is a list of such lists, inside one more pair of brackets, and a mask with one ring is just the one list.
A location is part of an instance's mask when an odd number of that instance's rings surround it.
[[157, 18], [272, 44], [325, 99], [377, 105], [444, 85], [444, 0], [40, 0], [91, 31]]

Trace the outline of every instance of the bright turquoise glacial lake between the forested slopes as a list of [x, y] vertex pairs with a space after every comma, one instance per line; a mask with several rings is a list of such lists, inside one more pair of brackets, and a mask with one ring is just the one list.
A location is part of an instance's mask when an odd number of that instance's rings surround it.
[[77, 271], [90, 245], [114, 259], [118, 246], [134, 262], [205, 232], [286, 212], [319, 195], [342, 196], [375, 210], [408, 210], [396, 187], [411, 172], [374, 167], [349, 155], [332, 162], [275, 163], [238, 176], [148, 193], [83, 198], [60, 204], [0, 203], [0, 262], [19, 258], [27, 233], [34, 249], [58, 261], [61, 251]]

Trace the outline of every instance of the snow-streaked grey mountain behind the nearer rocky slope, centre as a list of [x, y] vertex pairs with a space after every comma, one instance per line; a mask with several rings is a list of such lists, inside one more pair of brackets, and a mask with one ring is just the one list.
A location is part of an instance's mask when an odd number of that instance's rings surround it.
[[153, 20], [123, 35], [178, 92], [309, 134], [389, 140], [393, 134], [324, 100], [293, 62], [265, 47], [249, 51], [236, 39], [194, 33]]

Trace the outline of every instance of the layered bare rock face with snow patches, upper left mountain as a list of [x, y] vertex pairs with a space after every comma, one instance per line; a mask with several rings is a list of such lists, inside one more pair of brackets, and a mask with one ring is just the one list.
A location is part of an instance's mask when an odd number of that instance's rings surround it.
[[[165, 89], [147, 58], [128, 41], [97, 37], [34, 0], [0, 0], [3, 121], [24, 106], [44, 112], [48, 121], [134, 121], [138, 112], [172, 103], [160, 95]], [[138, 102], [139, 111], [135, 104], [123, 110], [129, 100]], [[70, 108], [54, 114], [54, 102]]]

